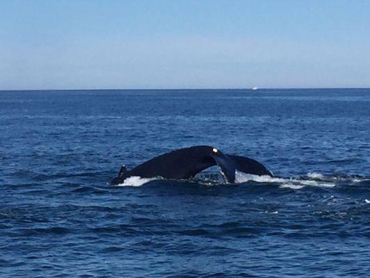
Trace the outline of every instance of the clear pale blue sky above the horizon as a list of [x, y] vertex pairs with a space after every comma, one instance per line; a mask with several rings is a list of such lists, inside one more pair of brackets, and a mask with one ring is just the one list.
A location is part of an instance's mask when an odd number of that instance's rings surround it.
[[370, 87], [370, 1], [0, 1], [0, 89]]

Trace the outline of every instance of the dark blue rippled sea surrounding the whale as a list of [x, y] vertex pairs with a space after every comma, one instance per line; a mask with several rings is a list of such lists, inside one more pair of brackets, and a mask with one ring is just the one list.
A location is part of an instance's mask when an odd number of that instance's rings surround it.
[[[368, 277], [370, 90], [0, 92], [0, 277]], [[140, 179], [180, 147], [276, 178]]]

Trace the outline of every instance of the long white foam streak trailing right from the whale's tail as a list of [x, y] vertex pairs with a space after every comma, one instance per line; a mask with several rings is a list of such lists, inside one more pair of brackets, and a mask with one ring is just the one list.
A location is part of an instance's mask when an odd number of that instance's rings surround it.
[[321, 186], [321, 187], [334, 187], [335, 183], [323, 182], [323, 181], [312, 181], [307, 179], [285, 179], [278, 177], [269, 176], [258, 176], [256, 174], [246, 174], [243, 172], [235, 171], [235, 182], [244, 183], [246, 181], [255, 181], [258, 183], [283, 183], [282, 186], [285, 188], [296, 188], [301, 189], [304, 186]]

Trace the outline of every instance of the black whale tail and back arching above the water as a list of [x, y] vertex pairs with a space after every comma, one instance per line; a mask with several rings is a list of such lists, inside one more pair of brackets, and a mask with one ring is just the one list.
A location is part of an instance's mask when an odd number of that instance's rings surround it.
[[162, 177], [165, 179], [191, 179], [199, 172], [218, 165], [223, 177], [228, 183], [235, 181], [235, 171], [246, 174], [273, 176], [271, 171], [262, 163], [252, 158], [223, 154], [219, 149], [211, 146], [194, 146], [156, 156], [131, 170], [121, 167], [117, 177], [110, 183], [123, 183], [128, 177]]

